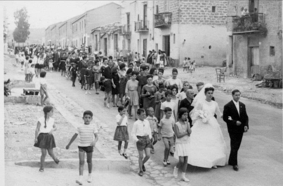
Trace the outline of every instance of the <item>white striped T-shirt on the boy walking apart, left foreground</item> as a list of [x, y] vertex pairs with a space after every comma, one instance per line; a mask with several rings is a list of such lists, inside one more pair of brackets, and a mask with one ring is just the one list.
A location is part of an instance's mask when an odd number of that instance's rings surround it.
[[94, 124], [80, 125], [76, 128], [76, 133], [80, 135], [80, 140], [78, 146], [87, 147], [91, 146], [94, 141], [94, 133], [98, 133], [96, 126]]

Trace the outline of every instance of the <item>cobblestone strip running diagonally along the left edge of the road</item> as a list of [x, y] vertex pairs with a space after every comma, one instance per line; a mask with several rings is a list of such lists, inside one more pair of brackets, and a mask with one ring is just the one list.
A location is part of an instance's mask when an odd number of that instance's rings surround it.
[[[82, 113], [85, 111], [78, 103], [68, 98], [68, 96], [53, 86], [48, 84], [50, 102], [54, 104], [56, 109], [70, 122], [74, 127], [82, 122]], [[99, 130], [99, 139], [96, 143], [96, 148], [106, 158], [119, 158], [117, 151], [117, 143], [113, 141], [114, 131], [108, 127], [108, 123], [105, 123], [95, 116], [93, 116], [93, 122], [96, 124]], [[136, 145], [133, 141], [129, 142], [127, 154], [131, 161], [131, 169], [137, 174], [139, 172], [139, 154], [136, 150]], [[120, 156], [122, 158], [122, 156]], [[151, 159], [145, 163], [146, 172], [143, 177], [148, 178], [148, 182], [152, 185], [188, 185], [187, 182], [183, 182], [180, 178], [175, 178], [171, 172], [168, 172], [168, 168], [165, 169], [163, 164], [157, 164]]]

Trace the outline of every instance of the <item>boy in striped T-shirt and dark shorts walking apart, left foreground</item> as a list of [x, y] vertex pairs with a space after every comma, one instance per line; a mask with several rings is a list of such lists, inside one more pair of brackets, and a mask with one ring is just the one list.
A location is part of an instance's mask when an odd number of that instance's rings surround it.
[[83, 120], [84, 124], [78, 126], [76, 129], [76, 133], [71, 138], [70, 142], [66, 146], [66, 149], [70, 148], [70, 145], [73, 141], [80, 136], [80, 140], [78, 143], [79, 149], [79, 174], [80, 177], [76, 180], [76, 183], [79, 185], [83, 185], [83, 165], [85, 164], [85, 152], [86, 152], [86, 161], [88, 163], [88, 182], [92, 182], [91, 172], [92, 172], [92, 152], [93, 147], [95, 146], [98, 140], [98, 130], [96, 126], [91, 123], [93, 113], [90, 110], [86, 110], [83, 112]]

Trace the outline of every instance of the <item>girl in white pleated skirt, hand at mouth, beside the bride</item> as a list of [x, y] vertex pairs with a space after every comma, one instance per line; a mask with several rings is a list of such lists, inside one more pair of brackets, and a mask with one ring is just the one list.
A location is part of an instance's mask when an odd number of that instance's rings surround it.
[[175, 123], [174, 129], [176, 134], [175, 153], [174, 158], [179, 159], [179, 162], [174, 167], [173, 175], [175, 178], [178, 176], [178, 169], [182, 167], [182, 180], [189, 182], [190, 180], [185, 177], [188, 153], [189, 153], [189, 136], [192, 132], [190, 123], [188, 122], [188, 110], [186, 108], [180, 108], [178, 113], [179, 121]]

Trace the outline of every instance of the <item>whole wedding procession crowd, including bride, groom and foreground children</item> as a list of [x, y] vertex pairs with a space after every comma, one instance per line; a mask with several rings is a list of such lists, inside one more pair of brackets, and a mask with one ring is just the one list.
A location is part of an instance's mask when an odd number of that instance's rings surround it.
[[[62, 76], [64, 73], [66, 78], [72, 81], [73, 87], [75, 87], [75, 80], [78, 78], [80, 88], [85, 90], [85, 94], [91, 94], [93, 88], [96, 94], [104, 92], [105, 96], [101, 102], [107, 108], [110, 108], [112, 102], [112, 107], [117, 107], [119, 112], [116, 115], [117, 127], [113, 137], [114, 141], [118, 141], [118, 152], [124, 158], [129, 158], [126, 153], [129, 136], [132, 136], [139, 152], [140, 176], [146, 171], [144, 164], [150, 158], [150, 154], [154, 154], [154, 145], [161, 138], [164, 143], [164, 166], [170, 164], [170, 154], [179, 159], [179, 163], [174, 167], [173, 174], [177, 177], [178, 168], [182, 167], [181, 178], [186, 182], [189, 181], [185, 177], [188, 163], [206, 168], [224, 166], [226, 163], [226, 143], [215, 114], [223, 118], [227, 125], [235, 125], [234, 127], [230, 126], [231, 129], [228, 131], [231, 138], [229, 164], [233, 165], [233, 169], [238, 170], [237, 151], [243, 132], [248, 130], [248, 117], [242, 103], [240, 103], [242, 105], [241, 109], [239, 109], [240, 91], [234, 90], [232, 92], [233, 104], [235, 102], [237, 110], [233, 110], [234, 108], [231, 109], [229, 105], [226, 105], [227, 109], [225, 110], [224, 107], [223, 116], [213, 97], [214, 88], [211, 84], [198, 82], [196, 84], [198, 93], [195, 94], [188, 81], [182, 82], [177, 78], [178, 70], [176, 68], [172, 69], [171, 78], [164, 79], [164, 67], [160, 63], [162, 61], [160, 56], [163, 56], [162, 51], [158, 51], [159, 63], [157, 63], [154, 53], [157, 52], [149, 51], [147, 58], [145, 59], [142, 56], [141, 60], [139, 59], [139, 53], [136, 53], [134, 62], [131, 61], [130, 56], [127, 54], [129, 61], [125, 64], [123, 56], [119, 54], [117, 54], [114, 61], [112, 56], [102, 56], [97, 51], [90, 54], [80, 52], [80, 50], [62, 51], [60, 49], [52, 50], [52, 48], [44, 50], [37, 47], [34, 56], [30, 56], [33, 59], [26, 56], [26, 60], [28, 60], [28, 64], [35, 63], [36, 77], [40, 76], [41, 78], [42, 106], [45, 105], [45, 100], [48, 97], [47, 85], [44, 79], [46, 71], [61, 71]], [[190, 60], [190, 58], [185, 58], [185, 60]], [[30, 68], [29, 65], [27, 67], [27, 69]], [[43, 71], [42, 68], [44, 68]], [[193, 67], [190, 67], [190, 70], [193, 69]], [[29, 81], [32, 80], [29, 79]], [[43, 99], [44, 95], [46, 95], [45, 99]], [[45, 124], [44, 128], [48, 125], [47, 128], [50, 133], [56, 130], [56, 126], [52, 125], [52, 120], [50, 120], [53, 113], [52, 108], [46, 107], [48, 105], [44, 107], [44, 122], [43, 118], [38, 120], [35, 139], [35, 146], [45, 149], [45, 151], [42, 151], [42, 164], [40, 167], [42, 172], [46, 149], [50, 152], [50, 148], [55, 147], [52, 136], [45, 138], [44, 135], [40, 135], [41, 130], [47, 131], [47, 129], [42, 128], [43, 124]], [[132, 107], [134, 107], [134, 113], [132, 113]], [[239, 115], [233, 115], [231, 113], [233, 111], [238, 111]], [[126, 112], [128, 112], [127, 115]], [[98, 138], [96, 128], [94, 125], [90, 125], [92, 116], [91, 111], [85, 111], [83, 114], [84, 125], [77, 128], [76, 134], [66, 146], [66, 149], [69, 149], [71, 143], [80, 134], [80, 178], [76, 180], [79, 184], [82, 183], [85, 152], [87, 153], [89, 166], [88, 181], [91, 182], [92, 164], [90, 157], [93, 152], [92, 147]], [[133, 117], [135, 122], [131, 133], [129, 133], [128, 119], [131, 120]], [[42, 144], [47, 143], [48, 148], [41, 146], [40, 141], [43, 141]], [[50, 141], [54, 141], [54, 144], [50, 145], [50, 143], [53, 143]], [[123, 141], [124, 151], [121, 150]], [[145, 157], [143, 151], [145, 151]], [[52, 151], [50, 155], [56, 163], [59, 162], [52, 155]]]

